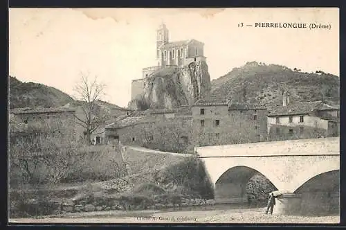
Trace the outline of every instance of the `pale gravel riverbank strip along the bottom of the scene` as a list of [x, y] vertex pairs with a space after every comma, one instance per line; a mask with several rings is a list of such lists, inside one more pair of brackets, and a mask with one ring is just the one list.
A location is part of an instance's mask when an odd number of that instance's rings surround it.
[[[72, 214], [72, 213], [71, 213]], [[260, 209], [229, 209], [201, 211], [103, 211], [93, 213], [73, 213], [63, 218], [10, 219], [12, 223], [338, 223], [340, 217], [265, 215]]]

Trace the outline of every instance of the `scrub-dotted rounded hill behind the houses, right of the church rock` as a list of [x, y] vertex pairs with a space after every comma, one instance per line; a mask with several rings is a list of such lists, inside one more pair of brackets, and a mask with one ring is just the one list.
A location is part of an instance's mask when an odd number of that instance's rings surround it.
[[338, 76], [317, 71], [303, 73], [277, 64], [247, 62], [225, 76], [212, 80], [212, 98], [231, 98], [235, 102], [282, 105], [282, 90], [290, 101], [339, 100]]

